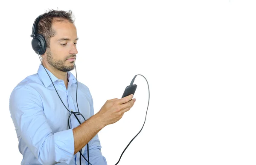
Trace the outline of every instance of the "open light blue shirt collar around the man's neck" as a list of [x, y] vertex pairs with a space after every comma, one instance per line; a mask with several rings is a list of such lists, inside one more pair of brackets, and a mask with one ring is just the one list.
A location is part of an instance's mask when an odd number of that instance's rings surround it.
[[[45, 69], [47, 70], [49, 75], [47, 74]], [[45, 68], [45, 69], [42, 64], [39, 65], [38, 76], [41, 79], [41, 81], [45, 87], [48, 87], [50, 84], [52, 84], [52, 82], [60, 80], [55, 75], [53, 75], [52, 72], [50, 72], [47, 68]], [[52, 81], [50, 80], [49, 76], [51, 77]], [[67, 79], [69, 80], [69, 82], [68, 82], [69, 86], [73, 83], [76, 83], [76, 78], [70, 71], [67, 72]]]

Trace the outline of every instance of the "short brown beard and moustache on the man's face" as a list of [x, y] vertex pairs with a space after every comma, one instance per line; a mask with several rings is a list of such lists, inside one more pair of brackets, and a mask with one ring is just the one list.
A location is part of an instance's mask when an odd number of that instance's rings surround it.
[[[65, 59], [65, 60], [54, 60], [53, 59], [53, 57], [52, 57], [52, 53], [51, 53], [51, 51], [47, 48], [47, 50], [46, 50], [46, 53], [47, 53], [47, 57], [46, 57], [46, 59], [47, 59], [47, 62], [52, 66], [52, 67], [54, 67], [55, 69], [58, 69], [58, 70], [60, 70], [60, 71], [62, 71], [62, 72], [69, 72], [69, 71], [71, 71], [71, 70], [73, 70], [74, 68], [75, 68], [75, 61], [72, 61], [72, 62], [70, 62], [70, 63], [73, 63], [73, 65], [70, 65], [70, 66], [66, 66], [65, 65], [65, 61], [67, 60], [67, 59]], [[72, 57], [75, 57], [76, 55], [73, 55]], [[70, 57], [68, 57], [68, 58], [70, 58]]]

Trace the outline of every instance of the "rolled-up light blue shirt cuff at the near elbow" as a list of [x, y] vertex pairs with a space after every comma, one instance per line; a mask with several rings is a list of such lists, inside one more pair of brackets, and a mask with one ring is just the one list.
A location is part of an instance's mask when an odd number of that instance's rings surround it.
[[73, 129], [54, 133], [55, 161], [70, 164], [75, 152]]

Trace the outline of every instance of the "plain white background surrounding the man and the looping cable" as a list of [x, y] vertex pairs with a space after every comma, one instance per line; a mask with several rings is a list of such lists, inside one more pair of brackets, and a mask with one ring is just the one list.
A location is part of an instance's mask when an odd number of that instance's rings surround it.
[[[255, 165], [255, 8], [253, 0], [1, 2], [0, 164], [22, 160], [9, 96], [40, 64], [31, 47], [34, 20], [47, 9], [70, 9], [78, 80], [89, 87], [95, 113], [121, 98], [134, 75], [148, 80], [145, 126], [119, 165]], [[134, 107], [99, 132], [108, 165], [145, 120], [147, 83], [137, 76], [134, 84]]]

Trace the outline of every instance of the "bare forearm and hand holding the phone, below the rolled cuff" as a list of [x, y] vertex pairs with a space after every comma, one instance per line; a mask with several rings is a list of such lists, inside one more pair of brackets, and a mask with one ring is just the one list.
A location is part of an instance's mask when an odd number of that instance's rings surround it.
[[133, 94], [121, 99], [114, 98], [106, 101], [98, 113], [73, 129], [76, 154], [81, 150], [103, 127], [120, 120], [125, 112], [131, 109], [136, 99]]

